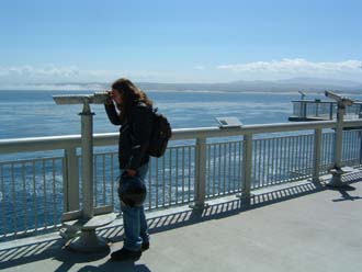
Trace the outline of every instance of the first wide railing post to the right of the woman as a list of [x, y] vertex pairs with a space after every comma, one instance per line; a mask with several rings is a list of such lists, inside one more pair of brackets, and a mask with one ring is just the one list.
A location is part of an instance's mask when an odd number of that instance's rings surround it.
[[195, 154], [195, 184], [194, 203], [191, 205], [194, 209], [202, 209], [207, 206], [206, 195], [206, 138], [196, 138]]

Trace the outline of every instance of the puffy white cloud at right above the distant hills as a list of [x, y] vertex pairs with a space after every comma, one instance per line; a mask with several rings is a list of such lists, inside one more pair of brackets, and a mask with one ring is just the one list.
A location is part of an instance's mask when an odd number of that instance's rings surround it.
[[217, 69], [257, 79], [281, 79], [291, 77], [337, 77], [361, 81], [361, 60], [313, 63], [303, 58], [284, 58], [273, 61], [219, 65]]

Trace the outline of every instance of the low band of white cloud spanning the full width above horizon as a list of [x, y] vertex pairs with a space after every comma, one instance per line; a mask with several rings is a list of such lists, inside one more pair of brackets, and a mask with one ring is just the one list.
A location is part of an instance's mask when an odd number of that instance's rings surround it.
[[[200, 72], [195, 72], [195, 69]], [[234, 80], [278, 80], [295, 77], [329, 78], [362, 82], [361, 60], [313, 63], [303, 58], [285, 58], [273, 61], [254, 61], [246, 64], [225, 64], [215, 68], [202, 64], [191, 66], [189, 70], [123, 70], [123, 69], [83, 69], [78, 66], [0, 66], [0, 89], [24, 88], [32, 86], [48, 89], [69, 84], [108, 86], [120, 77], [134, 81], [154, 82], [227, 82]], [[101, 84], [93, 84], [100, 82]]]

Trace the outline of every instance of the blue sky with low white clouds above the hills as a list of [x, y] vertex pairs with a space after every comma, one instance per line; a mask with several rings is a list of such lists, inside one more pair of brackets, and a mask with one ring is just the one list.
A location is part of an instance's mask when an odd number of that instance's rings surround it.
[[362, 1], [1, 0], [0, 88], [362, 81]]

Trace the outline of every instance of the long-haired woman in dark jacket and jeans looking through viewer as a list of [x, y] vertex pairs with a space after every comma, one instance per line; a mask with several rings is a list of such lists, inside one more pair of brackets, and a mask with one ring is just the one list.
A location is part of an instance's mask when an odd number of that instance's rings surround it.
[[[121, 175], [125, 172], [145, 179], [148, 170], [147, 155], [152, 125], [152, 102], [131, 80], [118, 79], [112, 84], [105, 112], [114, 125], [121, 125], [118, 161]], [[131, 207], [121, 202], [125, 241], [112, 260], [137, 259], [149, 248], [148, 226], [144, 206]]]

